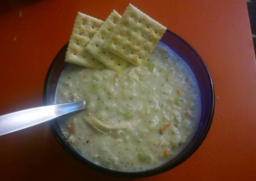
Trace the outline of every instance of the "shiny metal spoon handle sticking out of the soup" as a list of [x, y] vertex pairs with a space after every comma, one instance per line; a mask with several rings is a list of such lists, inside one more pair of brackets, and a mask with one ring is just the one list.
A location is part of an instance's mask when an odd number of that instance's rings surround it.
[[83, 100], [47, 105], [2, 115], [0, 116], [0, 136], [40, 124], [64, 114], [85, 109], [85, 105], [86, 102]]

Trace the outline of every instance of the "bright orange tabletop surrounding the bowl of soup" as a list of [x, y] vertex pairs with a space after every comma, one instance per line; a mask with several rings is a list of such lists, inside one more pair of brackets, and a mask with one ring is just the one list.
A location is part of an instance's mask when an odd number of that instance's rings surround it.
[[[138, 180], [255, 180], [256, 63], [245, 0], [1, 1], [0, 115], [43, 105], [47, 70], [69, 40], [77, 11], [105, 20], [129, 2], [195, 48], [220, 97], [197, 151], [172, 170]], [[73, 159], [47, 123], [1, 136], [0, 145], [0, 180], [129, 180]]]

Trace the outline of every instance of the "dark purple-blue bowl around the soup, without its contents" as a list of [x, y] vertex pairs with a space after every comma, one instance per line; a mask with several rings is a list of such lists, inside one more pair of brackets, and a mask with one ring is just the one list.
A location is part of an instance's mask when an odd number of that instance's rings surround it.
[[[168, 45], [179, 56], [181, 56], [187, 64], [189, 64], [199, 84], [202, 104], [201, 119], [191, 142], [175, 159], [167, 162], [160, 167], [140, 172], [121, 172], [95, 165], [94, 163], [86, 160], [69, 144], [69, 142], [66, 142], [66, 138], [61, 132], [58, 121], [56, 119], [50, 121], [49, 125], [51, 131], [57, 138], [61, 146], [82, 164], [85, 164], [92, 169], [108, 175], [129, 178], [147, 177], [160, 174], [181, 164], [187, 158], [189, 158], [204, 141], [210, 129], [214, 112], [214, 89], [210, 72], [199, 54], [184, 39], [182, 39], [175, 33], [167, 30], [164, 33], [161, 42]], [[57, 82], [62, 70], [66, 65], [66, 63], [64, 62], [66, 49], [67, 44], [56, 55], [47, 72], [43, 94], [44, 105], [54, 104], [55, 102]]]

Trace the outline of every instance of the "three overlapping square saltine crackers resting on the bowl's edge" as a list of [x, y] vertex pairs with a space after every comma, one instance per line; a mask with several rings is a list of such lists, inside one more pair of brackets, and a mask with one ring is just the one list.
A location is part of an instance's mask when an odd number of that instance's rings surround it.
[[77, 14], [66, 62], [122, 71], [144, 65], [166, 28], [129, 4], [122, 17], [113, 10], [106, 21]]

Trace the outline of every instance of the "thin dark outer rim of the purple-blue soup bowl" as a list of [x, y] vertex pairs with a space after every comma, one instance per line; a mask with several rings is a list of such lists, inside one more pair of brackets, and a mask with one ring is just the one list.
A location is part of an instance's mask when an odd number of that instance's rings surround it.
[[[174, 36], [176, 36], [178, 39], [180, 39], [184, 44], [186, 44], [186, 46], [188, 46], [198, 57], [198, 59], [202, 62], [205, 70], [207, 71], [207, 74], [209, 76], [209, 80], [210, 80], [210, 89], [211, 89], [211, 93], [210, 96], [212, 97], [212, 103], [211, 103], [211, 108], [210, 108], [210, 117], [207, 123], [207, 126], [205, 128], [205, 130], [202, 132], [202, 136], [198, 139], [198, 141], [196, 142], [196, 144], [191, 148], [190, 151], [188, 151], [187, 153], [184, 154], [184, 156], [178, 160], [177, 162], [175, 162], [173, 165], [171, 166], [166, 166], [163, 168], [159, 168], [157, 170], [151, 169], [151, 170], [145, 170], [145, 171], [139, 171], [139, 172], [122, 172], [122, 171], [116, 171], [116, 170], [111, 170], [105, 167], [102, 167], [100, 165], [96, 165], [92, 162], [90, 162], [89, 160], [85, 159], [84, 157], [82, 157], [80, 154], [77, 154], [76, 152], [74, 152], [69, 146], [66, 145], [65, 141], [63, 141], [60, 137], [60, 135], [57, 133], [57, 131], [54, 128], [53, 125], [53, 121], [56, 120], [51, 120], [49, 121], [49, 127], [51, 129], [52, 134], [54, 135], [54, 137], [57, 139], [57, 141], [60, 143], [60, 145], [62, 146], [62, 148], [64, 148], [64, 150], [69, 153], [70, 155], [72, 155], [73, 158], [75, 158], [77, 161], [79, 161], [80, 163], [82, 163], [83, 165], [86, 165], [87, 167], [94, 169], [96, 171], [99, 171], [103, 174], [107, 174], [107, 175], [111, 175], [111, 176], [116, 176], [116, 177], [121, 177], [121, 178], [142, 178], [142, 177], [149, 177], [149, 176], [153, 176], [153, 175], [157, 175], [157, 174], [161, 174], [165, 171], [168, 171], [178, 165], [180, 165], [181, 163], [183, 163], [185, 160], [187, 160], [198, 148], [199, 146], [202, 144], [202, 142], [204, 141], [204, 139], [207, 136], [207, 133], [210, 130], [211, 124], [212, 124], [212, 119], [213, 119], [213, 115], [214, 115], [214, 106], [215, 106], [215, 97], [214, 97], [214, 86], [213, 86], [213, 81], [212, 81], [212, 77], [210, 74], [210, 71], [207, 67], [207, 65], [205, 64], [204, 60], [201, 58], [201, 56], [197, 53], [197, 51], [189, 44], [187, 43], [183, 38], [181, 38], [179, 35], [177, 35], [176, 33], [170, 31], [170, 30], [166, 30], [167, 33], [171, 33]], [[165, 33], [166, 33], [165, 32]], [[54, 57], [54, 60], [52, 61], [52, 63], [49, 66], [49, 69], [47, 71], [46, 77], [45, 77], [45, 82], [44, 82], [44, 88], [43, 88], [43, 103], [44, 105], [47, 105], [47, 84], [48, 84], [48, 79], [51, 73], [51, 70], [55, 64], [55, 62], [57, 61], [57, 58], [59, 56], [59, 54], [63, 51], [64, 48], [66, 48], [67, 44], [69, 42], [67, 42], [57, 53], [57, 55]]]

